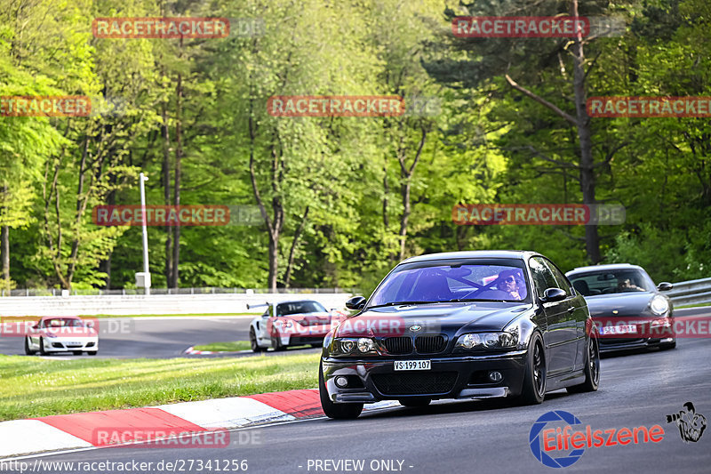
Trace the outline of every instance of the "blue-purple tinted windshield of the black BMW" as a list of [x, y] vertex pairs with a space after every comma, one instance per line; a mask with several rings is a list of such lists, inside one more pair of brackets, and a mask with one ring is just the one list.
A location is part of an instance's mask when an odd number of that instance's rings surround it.
[[379, 285], [369, 307], [401, 302], [523, 301], [529, 293], [523, 275], [523, 269], [508, 265], [402, 265]]

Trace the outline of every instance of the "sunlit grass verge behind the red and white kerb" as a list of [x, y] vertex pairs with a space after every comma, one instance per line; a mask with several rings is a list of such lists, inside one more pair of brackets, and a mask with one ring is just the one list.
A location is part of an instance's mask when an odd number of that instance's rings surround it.
[[0, 421], [318, 385], [320, 354], [46, 360], [0, 355]]

